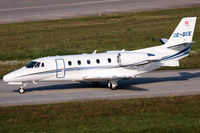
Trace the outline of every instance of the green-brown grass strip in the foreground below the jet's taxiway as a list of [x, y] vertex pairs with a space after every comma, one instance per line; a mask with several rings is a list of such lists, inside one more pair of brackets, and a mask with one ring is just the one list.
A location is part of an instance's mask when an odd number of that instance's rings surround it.
[[200, 132], [200, 95], [0, 107], [0, 132]]

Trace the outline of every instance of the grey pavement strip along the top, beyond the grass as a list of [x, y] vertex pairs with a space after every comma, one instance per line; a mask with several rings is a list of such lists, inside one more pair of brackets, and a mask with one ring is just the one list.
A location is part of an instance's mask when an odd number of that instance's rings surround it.
[[200, 6], [200, 0], [1, 0], [0, 24]]

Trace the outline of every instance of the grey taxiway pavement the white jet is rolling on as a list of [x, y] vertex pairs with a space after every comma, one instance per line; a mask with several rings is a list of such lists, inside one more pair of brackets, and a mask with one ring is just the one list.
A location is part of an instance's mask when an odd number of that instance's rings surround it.
[[131, 99], [200, 94], [200, 69], [154, 71], [133, 80], [119, 81], [118, 90], [106, 83], [41, 82], [29, 84], [24, 94], [19, 86], [0, 81], [0, 106], [57, 103], [79, 100]]

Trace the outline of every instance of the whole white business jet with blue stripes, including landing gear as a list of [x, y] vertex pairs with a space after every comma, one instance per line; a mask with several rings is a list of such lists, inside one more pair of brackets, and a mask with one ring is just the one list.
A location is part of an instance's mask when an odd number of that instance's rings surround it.
[[162, 66], [179, 66], [179, 60], [189, 55], [194, 44], [195, 23], [196, 17], [182, 18], [169, 39], [160, 39], [160, 46], [38, 58], [5, 75], [3, 80], [20, 85], [20, 94], [27, 83], [38, 81], [107, 81], [108, 87], [115, 90], [120, 79], [132, 79]]

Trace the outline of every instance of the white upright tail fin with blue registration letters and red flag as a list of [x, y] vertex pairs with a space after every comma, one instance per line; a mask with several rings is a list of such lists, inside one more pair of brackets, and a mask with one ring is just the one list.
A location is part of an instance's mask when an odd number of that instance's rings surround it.
[[196, 17], [182, 18], [165, 45], [171, 47], [183, 43], [192, 43], [195, 23]]

